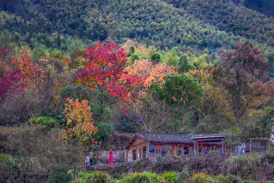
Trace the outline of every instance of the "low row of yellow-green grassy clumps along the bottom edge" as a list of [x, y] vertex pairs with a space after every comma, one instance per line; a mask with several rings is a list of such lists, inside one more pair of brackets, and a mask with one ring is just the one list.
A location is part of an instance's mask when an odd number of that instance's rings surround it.
[[[189, 173], [187, 167], [182, 172], [168, 171], [163, 174], [157, 175], [152, 172], [131, 172], [128, 174], [115, 174], [109, 175], [106, 172], [86, 172], [78, 173], [78, 177], [73, 183], [86, 183], [86, 182], [133, 182], [133, 183], [179, 183], [179, 182], [193, 182], [193, 183], [206, 183], [206, 182], [257, 182], [244, 180], [237, 175], [208, 175], [203, 172]], [[263, 182], [263, 181], [262, 181]]]

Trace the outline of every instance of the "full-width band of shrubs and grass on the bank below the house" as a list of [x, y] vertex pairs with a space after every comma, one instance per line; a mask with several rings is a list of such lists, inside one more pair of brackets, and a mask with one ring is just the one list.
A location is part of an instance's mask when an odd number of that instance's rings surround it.
[[[86, 171], [81, 168], [69, 171], [63, 167], [53, 169], [49, 174], [26, 174], [24, 165], [18, 165], [22, 157], [0, 154], [0, 182], [85, 183], [85, 182], [272, 182], [274, 181], [274, 153], [264, 155], [236, 156], [192, 156], [148, 159], [119, 166], [99, 167]], [[37, 171], [42, 167], [30, 160], [28, 163]], [[34, 171], [34, 170], [32, 170]], [[32, 178], [32, 179], [31, 179]], [[35, 179], [36, 178], [36, 179]]]

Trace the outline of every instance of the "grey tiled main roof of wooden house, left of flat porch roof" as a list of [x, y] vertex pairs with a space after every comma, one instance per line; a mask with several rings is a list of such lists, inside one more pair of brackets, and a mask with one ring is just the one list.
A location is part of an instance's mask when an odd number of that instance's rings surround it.
[[[136, 133], [136, 136], [148, 140], [149, 134]], [[194, 135], [172, 135], [172, 134], [150, 134], [150, 141], [156, 142], [189, 142], [193, 143], [191, 137]]]

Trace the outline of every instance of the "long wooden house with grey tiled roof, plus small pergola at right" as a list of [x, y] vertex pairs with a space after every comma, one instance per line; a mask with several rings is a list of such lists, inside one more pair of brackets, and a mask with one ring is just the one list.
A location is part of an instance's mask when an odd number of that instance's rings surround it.
[[[224, 144], [224, 134], [210, 135], [172, 135], [172, 134], [145, 134], [136, 133], [125, 147], [125, 161], [134, 161], [142, 158], [156, 159], [158, 156], [205, 155], [214, 153], [231, 153], [231, 149]], [[263, 146], [256, 146], [255, 141], [265, 141]], [[270, 150], [269, 138], [249, 139], [244, 151]], [[149, 145], [148, 145], [149, 144]], [[251, 144], [251, 148], [250, 148]], [[263, 149], [264, 148], [264, 149]], [[147, 150], [149, 157], [147, 157]]]

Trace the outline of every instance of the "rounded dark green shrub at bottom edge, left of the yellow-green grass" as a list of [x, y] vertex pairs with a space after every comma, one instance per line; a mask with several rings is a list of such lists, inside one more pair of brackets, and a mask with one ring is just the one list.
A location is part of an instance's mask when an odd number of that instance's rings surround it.
[[67, 174], [66, 170], [55, 169], [51, 171], [48, 177], [48, 183], [68, 183], [71, 179], [71, 174]]

